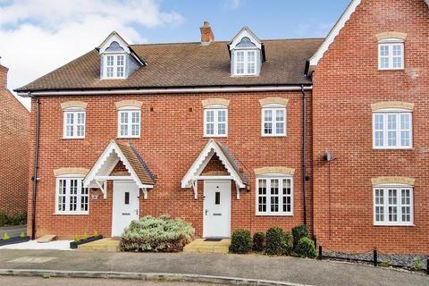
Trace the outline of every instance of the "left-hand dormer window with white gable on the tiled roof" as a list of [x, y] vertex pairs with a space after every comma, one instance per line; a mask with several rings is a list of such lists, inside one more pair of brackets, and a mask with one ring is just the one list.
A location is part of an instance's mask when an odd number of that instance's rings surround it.
[[147, 64], [116, 32], [110, 34], [97, 49], [101, 80], [127, 79], [140, 66]]

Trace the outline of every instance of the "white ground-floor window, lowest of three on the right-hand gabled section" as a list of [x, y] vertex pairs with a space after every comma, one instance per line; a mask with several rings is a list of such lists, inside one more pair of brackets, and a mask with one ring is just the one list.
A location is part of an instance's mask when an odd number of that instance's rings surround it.
[[413, 225], [413, 188], [374, 188], [374, 225]]

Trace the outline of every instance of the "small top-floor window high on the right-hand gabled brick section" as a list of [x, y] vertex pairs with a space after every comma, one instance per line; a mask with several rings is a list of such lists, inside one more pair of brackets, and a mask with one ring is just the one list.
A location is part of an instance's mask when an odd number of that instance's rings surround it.
[[379, 70], [404, 69], [404, 42], [401, 39], [385, 39], [378, 45]]

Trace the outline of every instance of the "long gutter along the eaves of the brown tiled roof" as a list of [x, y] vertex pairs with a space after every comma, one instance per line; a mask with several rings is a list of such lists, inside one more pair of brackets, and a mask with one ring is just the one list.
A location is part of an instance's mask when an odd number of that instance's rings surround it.
[[[33, 91], [33, 96], [102, 96], [102, 95], [135, 95], [135, 94], [181, 94], [181, 93], [223, 93], [223, 92], [257, 92], [257, 91], [299, 91], [304, 85], [290, 86], [254, 86], [254, 87], [214, 87], [214, 88], [128, 88], [128, 89], [75, 89]], [[305, 87], [311, 90], [312, 85]], [[16, 90], [15, 90], [16, 91]], [[20, 97], [29, 97], [28, 91], [17, 91]]]

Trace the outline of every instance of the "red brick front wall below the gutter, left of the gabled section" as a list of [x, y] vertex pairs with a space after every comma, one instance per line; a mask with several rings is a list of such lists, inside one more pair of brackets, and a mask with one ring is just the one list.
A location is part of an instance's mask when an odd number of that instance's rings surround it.
[[[140, 216], [146, 214], [170, 214], [179, 216], [197, 229], [201, 235], [203, 223], [203, 191], [200, 183], [198, 200], [194, 200], [191, 189], [181, 189], [181, 179], [190, 165], [206, 146], [203, 138], [203, 106], [206, 98], [230, 99], [228, 138], [216, 139], [224, 142], [251, 181], [250, 191], [242, 191], [236, 200], [236, 190], [232, 184], [231, 227], [248, 228], [251, 231], [265, 231], [273, 225], [289, 230], [303, 222], [301, 183], [302, 144], [302, 97], [300, 92], [279, 93], [237, 93], [237, 94], [182, 94], [182, 95], [139, 95], [106, 97], [42, 97], [40, 105], [40, 158], [37, 197], [37, 236], [54, 233], [62, 238], [72, 238], [73, 234], [84, 231], [110, 235], [112, 224], [112, 184], [109, 183], [107, 199], [97, 190], [96, 201], [90, 200], [88, 215], [55, 215], [54, 170], [61, 167], [90, 168], [101, 155], [111, 139], [117, 135], [117, 110], [115, 102], [123, 99], [137, 99], [143, 102], [141, 108], [141, 138], [119, 139], [132, 143], [144, 157], [157, 176], [154, 189], [149, 190], [148, 199], [140, 196]], [[261, 137], [261, 106], [259, 99], [265, 97], [289, 98], [287, 107], [287, 137]], [[308, 93], [307, 110], [311, 115], [311, 93]], [[80, 100], [88, 103], [86, 139], [63, 138], [63, 112], [60, 104], [64, 101]], [[33, 101], [33, 107], [35, 102]], [[151, 111], [153, 108], [153, 111]], [[311, 123], [311, 116], [308, 117]], [[35, 132], [35, 114], [31, 119], [31, 139]], [[311, 132], [307, 130], [307, 140]], [[34, 153], [34, 142], [31, 145]], [[307, 153], [311, 153], [308, 145]], [[214, 158], [215, 159], [215, 158]], [[311, 162], [308, 161], [308, 164]], [[214, 160], [210, 164], [216, 166]], [[294, 175], [294, 216], [258, 217], [255, 215], [255, 175], [253, 170], [264, 166], [287, 166], [295, 168]], [[308, 168], [311, 172], [311, 167]], [[311, 226], [312, 192], [307, 185], [308, 217]], [[29, 192], [29, 199], [31, 193]], [[31, 206], [29, 206], [29, 212]], [[30, 229], [29, 229], [30, 231]]]

